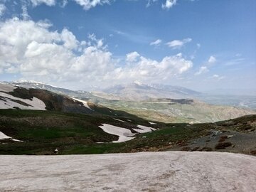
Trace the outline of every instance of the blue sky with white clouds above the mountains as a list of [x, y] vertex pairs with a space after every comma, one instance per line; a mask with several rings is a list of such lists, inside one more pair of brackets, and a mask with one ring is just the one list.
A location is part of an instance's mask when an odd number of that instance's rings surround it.
[[0, 81], [256, 85], [255, 0], [0, 0]]

